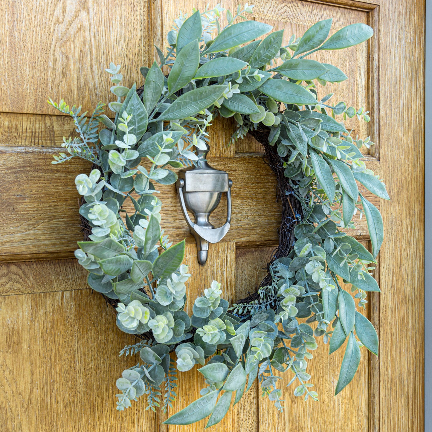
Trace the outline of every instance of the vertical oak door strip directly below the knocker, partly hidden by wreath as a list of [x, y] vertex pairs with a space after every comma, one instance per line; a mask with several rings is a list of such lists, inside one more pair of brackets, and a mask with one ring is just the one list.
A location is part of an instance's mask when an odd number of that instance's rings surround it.
[[[192, 306], [195, 298], [203, 295], [204, 289], [210, 287], [213, 280], [221, 283], [222, 297], [230, 303], [234, 301], [235, 292], [235, 244], [234, 242], [216, 243], [210, 245], [209, 257], [206, 264], [201, 266], [197, 261], [197, 248], [187, 245], [184, 262], [189, 264], [189, 271], [193, 275], [187, 282], [187, 303], [185, 310], [192, 314]], [[200, 389], [205, 388], [204, 377], [197, 371], [200, 365], [195, 365], [188, 372], [178, 374], [178, 397], [173, 403], [169, 414], [178, 412], [189, 403], [200, 397]], [[232, 407], [224, 419], [211, 430], [226, 432], [237, 430], [237, 406]], [[191, 426], [169, 425], [169, 432], [203, 431], [208, 419], [201, 420]]]

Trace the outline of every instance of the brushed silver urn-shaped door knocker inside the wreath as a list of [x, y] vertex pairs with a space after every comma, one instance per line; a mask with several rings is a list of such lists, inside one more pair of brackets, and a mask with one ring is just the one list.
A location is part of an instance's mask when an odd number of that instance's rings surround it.
[[[197, 242], [198, 262], [207, 260], [209, 243], [217, 243], [225, 237], [231, 222], [231, 186], [228, 173], [212, 168], [206, 161], [206, 150], [197, 150], [200, 158], [197, 167], [181, 169], [176, 182], [178, 199], [184, 219]], [[219, 204], [222, 193], [226, 193], [226, 222], [215, 228], [209, 221], [210, 213]], [[192, 222], [189, 210], [195, 217]]]

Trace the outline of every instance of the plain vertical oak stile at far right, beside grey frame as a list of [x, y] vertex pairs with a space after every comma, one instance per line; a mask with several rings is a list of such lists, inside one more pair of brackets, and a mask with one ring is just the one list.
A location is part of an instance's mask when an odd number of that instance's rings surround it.
[[[381, 206], [382, 431], [423, 430], [424, 26], [422, 0], [380, 6], [380, 159], [393, 197]], [[409, 55], [400, 50], [404, 44]], [[398, 97], [407, 82], [418, 85]], [[393, 329], [404, 326], [395, 342]], [[401, 353], [409, 360], [399, 361]]]

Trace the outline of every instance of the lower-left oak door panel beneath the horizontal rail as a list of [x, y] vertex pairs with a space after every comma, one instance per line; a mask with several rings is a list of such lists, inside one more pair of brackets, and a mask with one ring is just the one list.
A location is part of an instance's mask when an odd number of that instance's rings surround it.
[[[61, 262], [51, 266], [59, 274], [67, 271]], [[59, 292], [0, 297], [2, 430], [120, 432], [145, 425], [156, 431], [159, 419], [145, 410], [146, 400], [123, 413], [115, 409], [115, 381], [138, 361], [118, 352], [136, 339], [116, 327], [101, 295], [64, 291], [70, 288], [60, 276]], [[41, 283], [38, 290], [44, 289]]]

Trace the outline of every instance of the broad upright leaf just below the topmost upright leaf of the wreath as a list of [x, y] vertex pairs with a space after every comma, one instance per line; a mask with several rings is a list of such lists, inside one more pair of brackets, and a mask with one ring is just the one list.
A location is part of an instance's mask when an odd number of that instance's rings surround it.
[[200, 65], [198, 41], [189, 42], [177, 55], [168, 75], [168, 93], [172, 95], [194, 79]]

